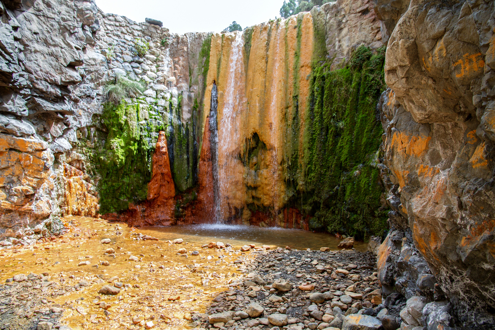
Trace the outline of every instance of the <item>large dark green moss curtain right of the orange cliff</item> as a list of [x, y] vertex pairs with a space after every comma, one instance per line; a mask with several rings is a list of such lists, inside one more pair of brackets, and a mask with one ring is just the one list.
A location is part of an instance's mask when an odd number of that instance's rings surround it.
[[342, 69], [313, 65], [301, 201], [313, 230], [362, 237], [386, 228], [379, 171], [371, 165], [383, 133], [376, 104], [385, 89], [384, 58], [384, 48], [373, 55], [361, 46]]

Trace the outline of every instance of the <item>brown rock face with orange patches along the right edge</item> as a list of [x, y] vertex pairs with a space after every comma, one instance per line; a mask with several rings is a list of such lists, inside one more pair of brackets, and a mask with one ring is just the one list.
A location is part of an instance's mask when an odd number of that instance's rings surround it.
[[494, 325], [481, 312], [494, 307], [493, 15], [493, 1], [411, 1], [388, 41], [380, 105], [390, 221], [473, 329]]

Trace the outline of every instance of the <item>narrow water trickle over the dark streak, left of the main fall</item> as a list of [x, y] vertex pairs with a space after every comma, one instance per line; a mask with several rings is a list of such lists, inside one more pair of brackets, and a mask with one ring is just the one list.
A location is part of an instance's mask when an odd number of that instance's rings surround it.
[[215, 222], [220, 222], [220, 191], [218, 189], [218, 92], [216, 83], [211, 87], [210, 116], [209, 116], [209, 140], [211, 150], [211, 172], [213, 175], [213, 197], [215, 201]]

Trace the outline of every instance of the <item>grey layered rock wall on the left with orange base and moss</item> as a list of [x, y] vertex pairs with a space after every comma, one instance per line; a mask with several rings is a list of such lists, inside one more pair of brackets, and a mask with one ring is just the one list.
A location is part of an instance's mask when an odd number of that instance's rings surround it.
[[[177, 188], [196, 184], [206, 33], [171, 35], [104, 14], [92, 1], [2, 1], [0, 14], [3, 229], [51, 216], [95, 216], [99, 202], [106, 213], [145, 200], [160, 129], [167, 130]], [[136, 111], [125, 119], [105, 117], [112, 108], [106, 91], [118, 77], [146, 87], [125, 95], [122, 104]], [[119, 141], [139, 144], [142, 159], [134, 165], [142, 182], [125, 169], [136, 148]], [[112, 166], [110, 180], [102, 169]], [[141, 190], [124, 187], [129, 182]]]

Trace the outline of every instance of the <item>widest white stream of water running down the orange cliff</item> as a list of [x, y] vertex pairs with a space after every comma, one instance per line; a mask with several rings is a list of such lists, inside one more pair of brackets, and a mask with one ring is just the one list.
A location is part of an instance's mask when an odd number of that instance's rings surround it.
[[218, 122], [218, 222], [229, 217], [229, 197], [236, 191], [236, 162], [239, 162], [240, 114], [246, 107], [244, 100], [244, 38], [237, 32], [229, 56], [227, 84], [224, 91], [224, 103]]

